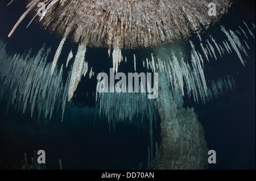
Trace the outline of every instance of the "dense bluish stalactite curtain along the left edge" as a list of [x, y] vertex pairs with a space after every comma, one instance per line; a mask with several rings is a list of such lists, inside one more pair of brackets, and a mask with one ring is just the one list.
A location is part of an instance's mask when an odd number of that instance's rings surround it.
[[51, 48], [44, 45], [36, 55], [30, 50], [9, 56], [2, 40], [0, 47], [0, 100], [6, 100], [6, 112], [13, 106], [22, 113], [30, 112], [31, 117], [36, 112], [38, 120], [47, 121], [62, 109], [63, 119], [70, 78], [63, 81], [63, 65], [51, 75], [51, 64], [47, 63]]

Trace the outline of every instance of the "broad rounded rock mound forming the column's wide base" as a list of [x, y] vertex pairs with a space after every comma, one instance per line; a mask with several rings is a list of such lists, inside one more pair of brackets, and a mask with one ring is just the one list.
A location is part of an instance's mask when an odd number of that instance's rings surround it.
[[208, 169], [204, 129], [193, 108], [177, 109], [176, 115], [162, 121], [160, 127], [162, 142], [151, 169]]

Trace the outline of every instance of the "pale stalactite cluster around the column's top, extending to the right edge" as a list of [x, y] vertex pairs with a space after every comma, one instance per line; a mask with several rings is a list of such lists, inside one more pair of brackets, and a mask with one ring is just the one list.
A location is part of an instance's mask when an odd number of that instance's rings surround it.
[[[237, 53], [238, 57], [240, 58], [242, 64], [245, 65], [245, 62], [243, 61], [242, 58], [242, 53], [245, 54], [246, 57], [248, 57], [248, 54], [245, 48], [243, 47], [242, 43], [245, 44], [247, 49], [250, 49], [246, 41], [241, 41], [241, 38], [239, 38], [239, 36], [236, 35], [236, 33], [234, 33], [232, 30], [229, 30], [230, 34], [228, 31], [225, 30], [224, 27], [222, 27], [221, 30], [228, 38], [229, 43], [226, 40], [223, 40], [221, 43], [217, 43], [217, 41], [214, 40], [213, 35], [210, 35], [210, 40], [212, 40], [216, 49], [220, 53], [220, 56], [222, 57], [222, 53], [224, 54], [225, 52], [228, 52], [229, 54], [232, 53], [232, 49], [230, 48], [231, 45], [233, 50]], [[217, 60], [218, 56], [214, 53], [214, 47], [212, 46], [212, 44], [210, 44], [210, 41], [208, 39], [206, 41], [206, 47], [210, 47], [208, 48], [208, 51], [204, 48], [205, 45], [203, 44], [203, 41], [200, 40], [200, 47], [202, 49], [203, 54], [205, 55], [208, 61], [209, 58], [207, 56], [207, 52], [213, 54], [214, 58]], [[151, 61], [148, 60], [148, 58], [146, 58], [146, 67], [147, 69], [151, 69], [152, 72], [165, 71], [167, 73], [167, 80], [170, 82], [171, 88], [173, 90], [179, 90], [181, 94], [184, 95], [185, 89], [187, 89], [187, 94], [189, 97], [191, 97], [192, 94], [192, 98], [195, 102], [198, 103], [199, 98], [201, 98], [203, 104], [205, 104], [207, 101], [209, 102], [210, 100], [212, 100], [213, 94], [214, 97], [219, 95], [219, 92], [221, 90], [214, 89], [212, 87], [212, 84], [207, 85], [203, 70], [204, 60], [200, 52], [196, 50], [195, 45], [192, 43], [192, 41], [189, 41], [189, 43], [191, 44], [190, 60], [184, 58], [186, 53], [182, 51], [182, 48], [180, 47], [179, 44], [175, 43], [172, 45], [165, 45], [163, 47], [155, 49], [155, 52], [157, 52], [158, 62], [155, 62], [154, 56], [153, 54], [151, 54]], [[221, 47], [221, 44], [224, 45], [225, 49]], [[225, 83], [225, 86], [226, 85], [228, 85], [228, 82]], [[209, 86], [212, 88], [209, 89]]]

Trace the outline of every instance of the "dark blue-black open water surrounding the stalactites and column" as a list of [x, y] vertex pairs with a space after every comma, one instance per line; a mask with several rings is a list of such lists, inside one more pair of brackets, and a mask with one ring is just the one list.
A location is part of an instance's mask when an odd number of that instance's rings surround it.
[[[15, 3], [6, 7], [8, 2], [9, 0], [0, 2], [0, 37], [8, 43], [8, 52], [23, 53], [30, 48], [36, 52], [46, 43], [48, 47], [52, 46], [49, 57], [53, 57], [60, 40], [40, 30], [34, 23], [26, 28], [30, 21], [27, 18], [20, 23], [11, 38], [7, 38], [16, 20], [24, 12]], [[254, 1], [237, 2], [229, 15], [224, 16], [220, 23], [211, 27], [201, 37], [204, 39], [209, 34], [219, 33], [220, 24], [236, 30], [243, 24], [242, 21], [247, 24], [255, 23]], [[184, 106], [195, 107], [198, 119], [204, 127], [208, 148], [216, 150], [217, 163], [209, 165], [209, 169], [255, 169], [255, 39], [248, 33], [247, 36], [250, 51], [247, 51], [249, 58], [246, 58], [245, 68], [236, 53], [225, 54], [217, 61], [205, 61], [205, 78], [216, 79], [232, 74], [236, 82], [233, 92], [224, 92], [224, 95], [206, 106], [185, 100]], [[214, 38], [217, 41], [224, 36], [217, 34]], [[198, 41], [196, 37], [191, 37], [191, 40]], [[68, 42], [64, 44], [59, 59], [60, 62], [63, 61], [61, 63], [65, 62], [71, 48], [76, 50], [77, 45]], [[127, 54], [127, 60], [133, 60], [133, 53], [136, 51], [124, 52]], [[89, 67], [93, 66], [96, 75], [102, 70], [107, 72], [112, 66], [107, 49], [88, 48], [86, 59], [89, 60]], [[49, 62], [51, 60], [49, 58]], [[142, 66], [137, 66], [138, 71], [142, 70]], [[119, 71], [129, 70], [133, 70], [133, 61], [119, 67]], [[67, 71], [68, 69], [64, 69], [64, 78]], [[81, 100], [79, 94], [83, 91], [93, 92], [95, 87], [95, 77], [92, 80], [82, 79], [77, 87], [77, 99], [74, 98], [74, 103], [85, 103], [93, 107], [95, 97]], [[140, 162], [142, 168], [145, 168], [147, 147], [150, 145], [148, 129], [147, 124], [138, 128], [121, 123], [115, 131], [109, 132], [106, 120], [104, 123], [96, 123], [93, 129], [93, 120], [85, 122], [84, 117], [75, 111], [66, 112], [63, 123], [60, 121], [60, 113], [53, 114], [48, 124], [38, 123], [37, 118], [30, 118], [29, 115], [22, 115], [13, 109], [6, 114], [6, 103], [1, 103], [0, 168], [19, 169], [25, 152], [28, 162], [31, 163], [34, 150], [41, 149], [46, 151], [47, 169], [59, 169], [59, 159], [62, 160], [63, 169], [138, 169]], [[159, 134], [158, 119], [156, 129], [154, 128], [154, 142], [159, 143]]]

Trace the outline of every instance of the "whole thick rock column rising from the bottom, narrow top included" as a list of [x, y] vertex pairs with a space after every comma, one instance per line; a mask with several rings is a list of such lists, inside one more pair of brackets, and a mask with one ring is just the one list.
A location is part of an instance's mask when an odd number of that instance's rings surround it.
[[156, 100], [161, 118], [161, 143], [151, 169], [208, 169], [207, 142], [204, 129], [192, 108], [182, 108], [183, 99], [170, 91], [159, 76], [159, 99]]

